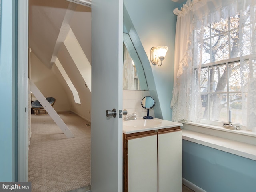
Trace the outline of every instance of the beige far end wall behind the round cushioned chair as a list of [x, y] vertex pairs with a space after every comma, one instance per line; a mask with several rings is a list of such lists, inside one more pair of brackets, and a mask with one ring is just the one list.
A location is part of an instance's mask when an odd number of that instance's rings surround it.
[[[62, 84], [60, 84], [53, 71], [48, 69], [36, 57], [33, 50], [31, 52], [31, 80], [45, 97], [54, 97], [56, 99], [53, 106], [56, 111], [70, 110], [70, 103]], [[32, 100], [36, 100], [33, 95]]]

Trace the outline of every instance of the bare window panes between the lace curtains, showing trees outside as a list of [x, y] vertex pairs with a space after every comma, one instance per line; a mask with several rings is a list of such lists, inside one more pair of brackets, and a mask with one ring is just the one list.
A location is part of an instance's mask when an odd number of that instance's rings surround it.
[[[248, 10], [249, 7], [247, 13]], [[201, 52], [198, 76], [202, 119], [242, 124], [242, 106], [245, 103], [242, 103], [240, 56], [244, 56], [245, 62], [248, 60], [251, 30], [250, 17], [246, 18], [242, 36], [239, 34], [240, 14], [222, 18], [219, 22], [208, 24], [203, 30], [195, 32], [196, 36], [203, 32], [203, 40], [196, 41], [197, 52]], [[239, 38], [243, 38], [242, 50]], [[242, 70], [246, 69], [248, 68], [243, 67]]]

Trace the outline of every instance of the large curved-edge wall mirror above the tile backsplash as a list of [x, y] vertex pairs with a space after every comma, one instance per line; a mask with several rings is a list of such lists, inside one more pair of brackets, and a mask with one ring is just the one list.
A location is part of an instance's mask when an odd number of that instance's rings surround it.
[[148, 90], [144, 69], [129, 34], [124, 33], [123, 90]]

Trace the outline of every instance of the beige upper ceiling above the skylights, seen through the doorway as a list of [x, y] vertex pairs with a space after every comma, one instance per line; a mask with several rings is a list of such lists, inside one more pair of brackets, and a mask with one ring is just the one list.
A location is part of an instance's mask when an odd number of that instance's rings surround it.
[[91, 8], [66, 0], [29, 0], [29, 47], [48, 68], [72, 28], [91, 63]]

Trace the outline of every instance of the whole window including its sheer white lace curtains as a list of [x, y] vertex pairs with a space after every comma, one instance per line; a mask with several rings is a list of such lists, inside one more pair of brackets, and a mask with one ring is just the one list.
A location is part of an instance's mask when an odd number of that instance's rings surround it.
[[172, 120], [256, 132], [256, 1], [187, 1], [177, 14]]

